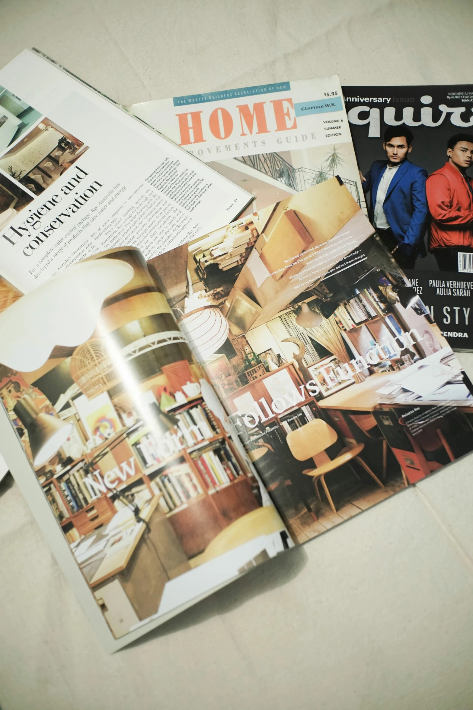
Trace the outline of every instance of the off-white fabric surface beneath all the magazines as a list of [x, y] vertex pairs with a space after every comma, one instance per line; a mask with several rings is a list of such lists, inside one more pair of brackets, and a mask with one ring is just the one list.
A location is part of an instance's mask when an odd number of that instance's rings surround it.
[[[470, 0], [2, 0], [0, 63], [35, 46], [123, 103], [332, 73], [342, 84], [460, 83], [472, 82], [472, 31]], [[113, 656], [7, 477], [1, 708], [472, 708], [472, 461]]]

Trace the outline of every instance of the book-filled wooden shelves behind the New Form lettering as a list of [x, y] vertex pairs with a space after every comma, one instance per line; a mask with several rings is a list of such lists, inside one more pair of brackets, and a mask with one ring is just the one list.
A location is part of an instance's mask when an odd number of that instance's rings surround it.
[[[163, 451], [163, 446], [157, 445], [152, 432], [143, 427], [136, 427], [130, 435], [122, 432], [119, 446], [115, 445], [116, 439], [109, 445], [109, 450], [104, 444], [107, 457], [118, 451], [126, 460], [135, 458], [134, 475], [126, 481], [119, 481], [113, 491], [100, 495], [96, 495], [96, 491], [94, 493], [85, 480], [90, 476], [90, 471], [84, 467], [84, 459], [74, 461], [67, 469], [41, 482], [69, 542], [75, 542], [82, 535], [108, 523], [126, 505], [117, 492], [126, 493], [140, 507], [153, 496], [159, 496], [160, 508], [172, 521], [178, 537], [183, 527], [179, 524], [179, 515], [185, 515], [188, 520], [187, 511], [192, 508], [194, 528], [191, 525], [191, 554], [203, 550], [206, 542], [200, 530], [206, 514], [199, 514], [199, 505], [206, 510], [211, 506], [216, 525], [221, 529], [232, 522], [225, 512], [228, 510], [228, 500], [235, 497], [245, 501], [245, 496], [242, 498], [238, 487], [235, 493], [231, 488], [233, 484], [246, 481], [246, 487], [251, 490], [255, 487], [252, 474], [221, 422], [211, 413], [202, 398], [175, 405], [172, 414], [178, 421], [172, 435], [174, 451], [170, 445], [169, 451]], [[118, 456], [115, 458], [118, 463]], [[113, 465], [110, 458], [104, 457], [102, 460], [107, 461], [108, 467]], [[99, 466], [100, 463], [94, 465]], [[102, 475], [106, 466], [102, 466]], [[219, 495], [223, 490], [226, 491], [225, 496]], [[222, 501], [225, 501], [224, 505]], [[189, 528], [188, 522], [185, 527]]]

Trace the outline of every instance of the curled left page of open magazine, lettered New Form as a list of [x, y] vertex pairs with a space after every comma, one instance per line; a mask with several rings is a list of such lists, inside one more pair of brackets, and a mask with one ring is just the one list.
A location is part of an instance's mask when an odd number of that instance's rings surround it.
[[2, 453], [107, 648], [293, 545], [138, 249], [0, 314], [0, 398]]

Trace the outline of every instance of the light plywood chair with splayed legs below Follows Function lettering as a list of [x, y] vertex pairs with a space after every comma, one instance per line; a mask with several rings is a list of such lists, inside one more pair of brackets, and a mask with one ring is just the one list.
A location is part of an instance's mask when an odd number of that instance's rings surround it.
[[306, 474], [306, 476], [312, 476], [313, 485], [316, 488], [319, 501], [321, 500], [321, 494], [318, 490], [318, 480], [320, 479], [322, 481], [325, 496], [327, 496], [330, 508], [332, 508], [334, 513], [336, 513], [337, 510], [333, 504], [327, 484], [325, 483], [325, 474], [328, 474], [330, 471], [335, 471], [335, 469], [343, 466], [343, 464], [350, 464], [350, 461], [355, 459], [360, 466], [363, 466], [379, 488], [384, 488], [382, 482], [379, 481], [369, 466], [365, 464], [365, 461], [358, 455], [365, 448], [365, 444], [350, 444], [342, 449], [335, 459], [329, 459], [325, 449], [335, 444], [337, 438], [337, 432], [335, 432], [335, 429], [330, 427], [327, 422], [324, 422], [323, 419], [314, 419], [303, 427], [296, 429], [294, 432], [290, 432], [286, 439], [287, 445], [289, 449], [291, 449], [291, 454], [295, 459], [298, 461], [313, 459], [316, 468], [306, 469], [302, 471], [302, 473]]

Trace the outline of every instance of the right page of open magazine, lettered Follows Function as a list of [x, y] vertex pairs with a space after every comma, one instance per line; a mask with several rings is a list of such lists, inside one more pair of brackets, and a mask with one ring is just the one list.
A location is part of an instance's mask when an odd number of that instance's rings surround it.
[[472, 450], [471, 383], [341, 180], [183, 250], [174, 312], [294, 540]]

